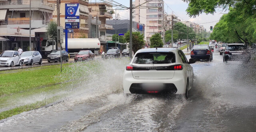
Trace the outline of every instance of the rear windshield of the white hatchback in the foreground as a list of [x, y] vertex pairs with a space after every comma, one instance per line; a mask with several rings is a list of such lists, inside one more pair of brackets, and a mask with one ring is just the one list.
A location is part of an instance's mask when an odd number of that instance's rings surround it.
[[135, 64], [170, 64], [175, 62], [173, 52], [142, 52], [136, 54], [133, 60]]

